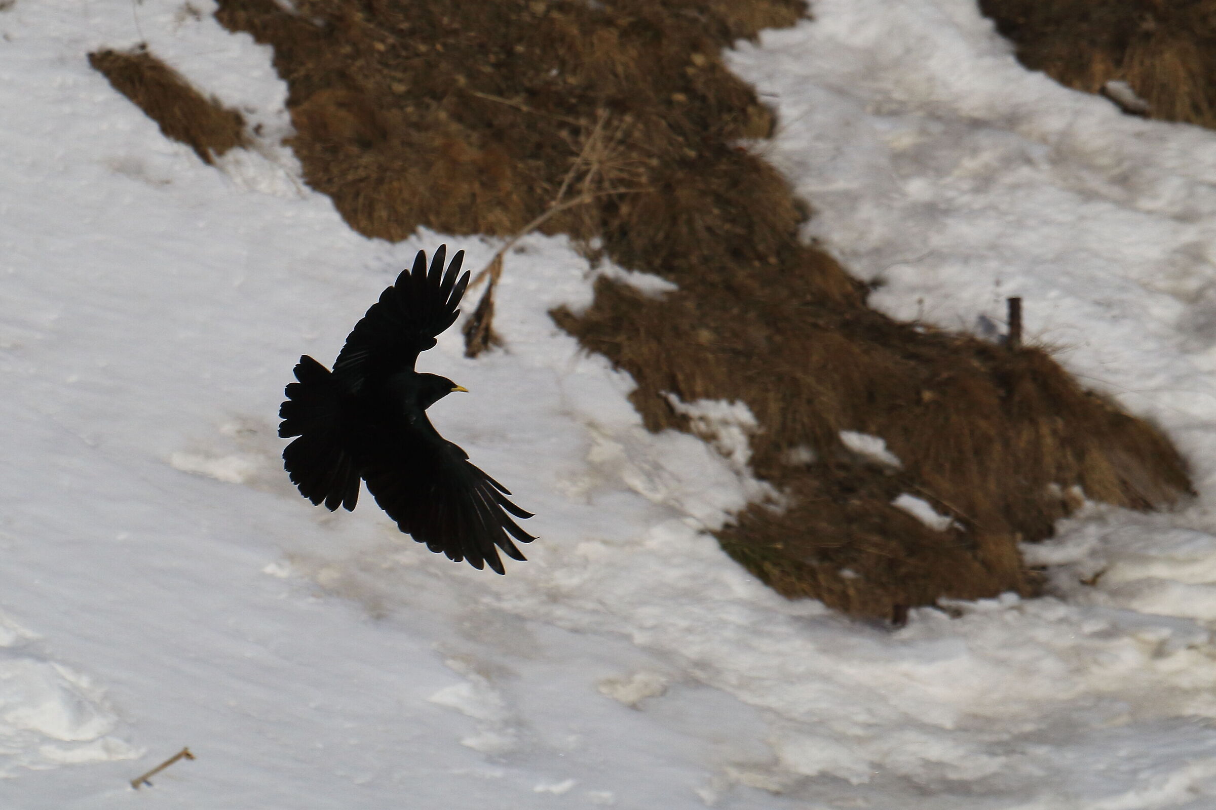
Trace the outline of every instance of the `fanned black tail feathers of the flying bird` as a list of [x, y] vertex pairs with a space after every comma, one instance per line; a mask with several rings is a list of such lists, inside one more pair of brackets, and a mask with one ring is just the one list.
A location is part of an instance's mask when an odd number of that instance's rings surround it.
[[308, 355], [295, 366], [295, 379], [299, 383], [287, 385], [287, 401], [278, 409], [278, 435], [299, 437], [283, 451], [283, 468], [314, 504], [351, 510], [359, 500], [359, 470], [342, 449], [336, 427], [340, 389], [330, 370]]

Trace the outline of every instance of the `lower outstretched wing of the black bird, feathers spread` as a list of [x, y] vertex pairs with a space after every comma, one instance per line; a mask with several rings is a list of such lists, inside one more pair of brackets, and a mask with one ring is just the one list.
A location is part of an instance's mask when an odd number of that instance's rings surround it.
[[456, 562], [467, 560], [478, 570], [489, 563], [503, 573], [497, 549], [512, 560], [524, 560], [511, 539], [536, 539], [511, 519], [531, 517], [531, 512], [507, 500], [506, 487], [438, 434], [432, 438], [413, 430], [399, 432], [365, 459], [362, 475], [367, 491], [398, 528]]

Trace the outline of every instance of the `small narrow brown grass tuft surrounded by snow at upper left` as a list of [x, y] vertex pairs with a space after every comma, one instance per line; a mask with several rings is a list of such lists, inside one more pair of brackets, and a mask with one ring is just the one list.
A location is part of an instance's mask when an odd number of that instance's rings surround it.
[[146, 50], [97, 51], [89, 64], [159, 124], [165, 137], [185, 143], [204, 163], [249, 142], [241, 113], [204, 97]]

